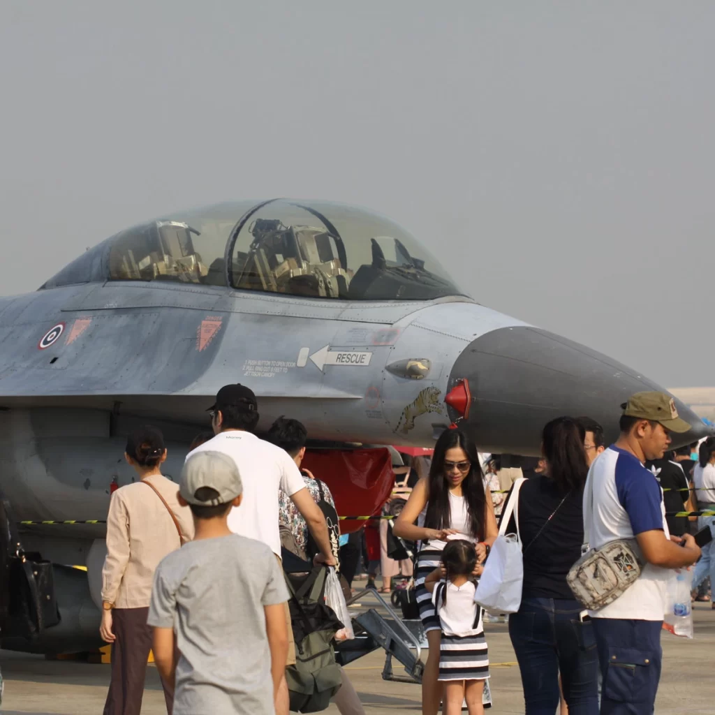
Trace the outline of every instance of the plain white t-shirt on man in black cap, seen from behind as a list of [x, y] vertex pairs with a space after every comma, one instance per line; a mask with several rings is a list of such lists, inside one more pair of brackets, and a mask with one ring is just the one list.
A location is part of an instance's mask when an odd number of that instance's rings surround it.
[[199, 445], [197, 452], [222, 452], [236, 463], [243, 483], [241, 506], [228, 515], [230, 530], [255, 538], [280, 556], [278, 530], [278, 490], [288, 496], [305, 489], [300, 469], [290, 455], [250, 432], [228, 430]]

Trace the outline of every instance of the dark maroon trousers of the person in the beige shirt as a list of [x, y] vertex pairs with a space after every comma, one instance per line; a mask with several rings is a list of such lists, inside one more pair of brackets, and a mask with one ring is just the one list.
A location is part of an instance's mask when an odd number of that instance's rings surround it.
[[[114, 608], [112, 631], [112, 681], [109, 684], [104, 715], [139, 715], [142, 711], [147, 660], [152, 650], [152, 628], [147, 626], [149, 608]], [[162, 683], [163, 685], [163, 683]], [[174, 698], [164, 689], [167, 713]]]

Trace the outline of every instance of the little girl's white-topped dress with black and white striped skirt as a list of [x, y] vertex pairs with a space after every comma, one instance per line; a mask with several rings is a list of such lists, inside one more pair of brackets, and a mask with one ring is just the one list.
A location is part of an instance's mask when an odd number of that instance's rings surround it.
[[433, 591], [435, 611], [442, 626], [440, 681], [485, 680], [489, 677], [482, 609], [474, 603], [475, 590], [473, 581], [455, 586], [443, 579]]

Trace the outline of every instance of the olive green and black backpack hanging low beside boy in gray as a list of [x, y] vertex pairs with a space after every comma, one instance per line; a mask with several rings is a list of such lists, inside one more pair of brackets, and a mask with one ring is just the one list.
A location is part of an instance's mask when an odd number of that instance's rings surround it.
[[325, 566], [315, 566], [307, 576], [285, 574], [295, 640], [295, 665], [287, 666], [285, 679], [294, 712], [325, 710], [342, 683], [332, 641], [343, 624], [325, 604], [325, 576]]

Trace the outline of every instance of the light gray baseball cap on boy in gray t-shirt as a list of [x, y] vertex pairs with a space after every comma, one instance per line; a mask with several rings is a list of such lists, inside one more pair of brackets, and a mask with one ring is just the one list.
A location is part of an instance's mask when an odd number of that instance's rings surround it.
[[[219, 495], [209, 501], [196, 498], [202, 487], [215, 489]], [[219, 506], [233, 501], [243, 491], [241, 475], [232, 458], [222, 452], [197, 452], [186, 460], [181, 472], [179, 493], [194, 506]]]

